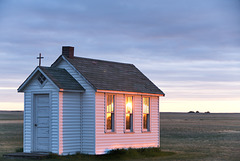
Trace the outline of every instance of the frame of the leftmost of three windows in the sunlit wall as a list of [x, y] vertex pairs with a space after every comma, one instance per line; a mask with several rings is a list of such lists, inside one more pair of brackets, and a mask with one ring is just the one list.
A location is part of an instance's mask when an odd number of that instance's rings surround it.
[[[108, 103], [108, 96], [113, 96], [113, 119], [111, 120], [112, 129], [107, 128], [107, 114], [110, 112], [107, 112], [107, 103]], [[105, 98], [105, 133], [115, 133], [116, 132], [116, 95], [115, 94], [106, 94]]]

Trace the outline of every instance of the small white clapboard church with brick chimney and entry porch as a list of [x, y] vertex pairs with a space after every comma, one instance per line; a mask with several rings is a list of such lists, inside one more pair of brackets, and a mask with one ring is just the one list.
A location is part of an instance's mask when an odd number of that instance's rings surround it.
[[24, 152], [160, 146], [164, 93], [133, 64], [76, 57], [63, 46], [51, 67], [36, 67], [18, 92], [24, 92]]

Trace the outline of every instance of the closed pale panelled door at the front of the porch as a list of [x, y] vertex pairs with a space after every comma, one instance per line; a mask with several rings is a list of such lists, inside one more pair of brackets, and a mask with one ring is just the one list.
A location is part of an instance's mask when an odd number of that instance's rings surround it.
[[33, 151], [50, 151], [50, 102], [48, 94], [35, 96]]

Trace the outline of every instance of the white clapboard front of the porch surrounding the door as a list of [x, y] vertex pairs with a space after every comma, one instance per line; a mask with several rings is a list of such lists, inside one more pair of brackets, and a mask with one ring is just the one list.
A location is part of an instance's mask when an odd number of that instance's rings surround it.
[[41, 87], [36, 78], [29, 82], [24, 90], [24, 152], [33, 151], [33, 97], [34, 94], [48, 93], [50, 95], [51, 124], [50, 124], [50, 151], [58, 153], [58, 91], [56, 87], [47, 80]]

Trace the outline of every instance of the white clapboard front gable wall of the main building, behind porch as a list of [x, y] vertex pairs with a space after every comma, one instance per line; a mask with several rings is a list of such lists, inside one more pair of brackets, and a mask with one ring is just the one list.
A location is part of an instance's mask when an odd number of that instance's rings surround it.
[[[62, 60], [56, 67], [66, 69], [85, 89], [81, 98], [80, 152], [95, 154], [95, 90], [68, 62]], [[69, 148], [70, 149], [70, 148]]]

